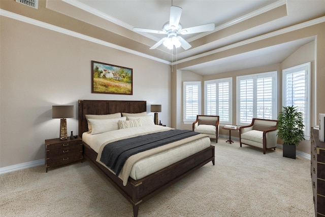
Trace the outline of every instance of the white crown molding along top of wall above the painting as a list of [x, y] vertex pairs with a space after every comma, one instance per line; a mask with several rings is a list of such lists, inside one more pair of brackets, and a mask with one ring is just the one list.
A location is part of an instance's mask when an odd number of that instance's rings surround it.
[[103, 45], [103, 46], [106, 46], [106, 47], [110, 47], [110, 48], [114, 48], [114, 49], [124, 51], [124, 52], [127, 52], [127, 53], [135, 54], [137, 56], [145, 57], [145, 58], [157, 61], [157, 62], [161, 62], [161, 63], [165, 63], [165, 64], [169, 64], [169, 65], [172, 64], [171, 62], [169, 62], [167, 60], [164, 60], [164, 59], [160, 59], [160, 58], [150, 56], [150, 55], [147, 55], [147, 54], [135, 51], [135, 50], [124, 48], [122, 46], [118, 46], [118, 45], [115, 45], [115, 44], [112, 44], [112, 43], [109, 43], [109, 42], [105, 42], [103, 40], [95, 39], [93, 37], [89, 37], [87, 35], [84, 35], [84, 34], [81, 34], [81, 33], [75, 32], [75, 31], [71, 31], [71, 30], [68, 30], [68, 29], [65, 29], [65, 28], [61, 28], [61, 27], [58, 27], [58, 26], [55, 26], [55, 25], [52, 25], [52, 24], [48, 24], [48, 23], [39, 21], [39, 20], [31, 19], [29, 17], [25, 17], [25, 16], [22, 16], [22, 15], [19, 15], [19, 14], [16, 14], [16, 13], [12, 13], [12, 12], [3, 10], [3, 9], [0, 9], [0, 16], [5, 16], [5, 17], [12, 18], [12, 19], [15, 19], [15, 20], [19, 20], [19, 21], [22, 21], [22, 22], [25, 22], [25, 23], [36, 25], [36, 26], [39, 26], [39, 27], [42, 27], [42, 28], [46, 28], [46, 29], [49, 29], [49, 30], [53, 30], [53, 31], [56, 31], [56, 32], [67, 34], [67, 35], [70, 35], [70, 36], [75, 37], [75, 38], [83, 39], [83, 40], [93, 42], [93, 43], [96, 43], [96, 44], [100, 44], [100, 45]]

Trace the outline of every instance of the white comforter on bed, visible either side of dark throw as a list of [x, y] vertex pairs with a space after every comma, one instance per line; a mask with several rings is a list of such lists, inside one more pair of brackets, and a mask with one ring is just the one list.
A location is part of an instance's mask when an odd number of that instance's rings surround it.
[[[101, 146], [105, 143], [116, 141], [120, 138], [133, 137], [150, 132], [158, 132], [170, 130], [172, 128], [163, 127], [159, 125], [141, 126], [127, 129], [119, 129], [100, 134], [91, 135], [90, 133], [83, 133], [82, 139], [86, 142], [96, 153], [99, 153]], [[208, 136], [194, 140], [183, 146], [170, 149], [153, 156], [144, 158], [136, 162], [129, 174], [133, 179], [141, 179], [153, 172], [163, 169], [173, 163], [176, 163], [186, 157], [193, 155], [210, 147], [211, 142]], [[124, 181], [124, 180], [123, 180]]]

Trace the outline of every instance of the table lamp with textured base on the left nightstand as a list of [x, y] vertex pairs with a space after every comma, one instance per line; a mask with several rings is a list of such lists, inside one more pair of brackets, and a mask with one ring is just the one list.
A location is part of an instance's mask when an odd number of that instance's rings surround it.
[[52, 118], [60, 118], [60, 140], [68, 139], [67, 119], [73, 118], [73, 105], [52, 105]]

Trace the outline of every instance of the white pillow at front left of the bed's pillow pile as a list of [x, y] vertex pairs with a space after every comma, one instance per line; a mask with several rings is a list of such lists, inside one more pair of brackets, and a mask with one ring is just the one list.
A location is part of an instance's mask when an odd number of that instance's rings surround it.
[[91, 134], [104, 133], [118, 130], [118, 121], [126, 120], [126, 117], [112, 119], [88, 119], [92, 126]]

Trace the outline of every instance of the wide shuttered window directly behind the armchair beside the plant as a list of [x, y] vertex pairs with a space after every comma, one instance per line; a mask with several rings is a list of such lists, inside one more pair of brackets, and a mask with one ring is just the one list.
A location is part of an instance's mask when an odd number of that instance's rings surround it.
[[277, 71], [237, 77], [237, 124], [277, 119]]

